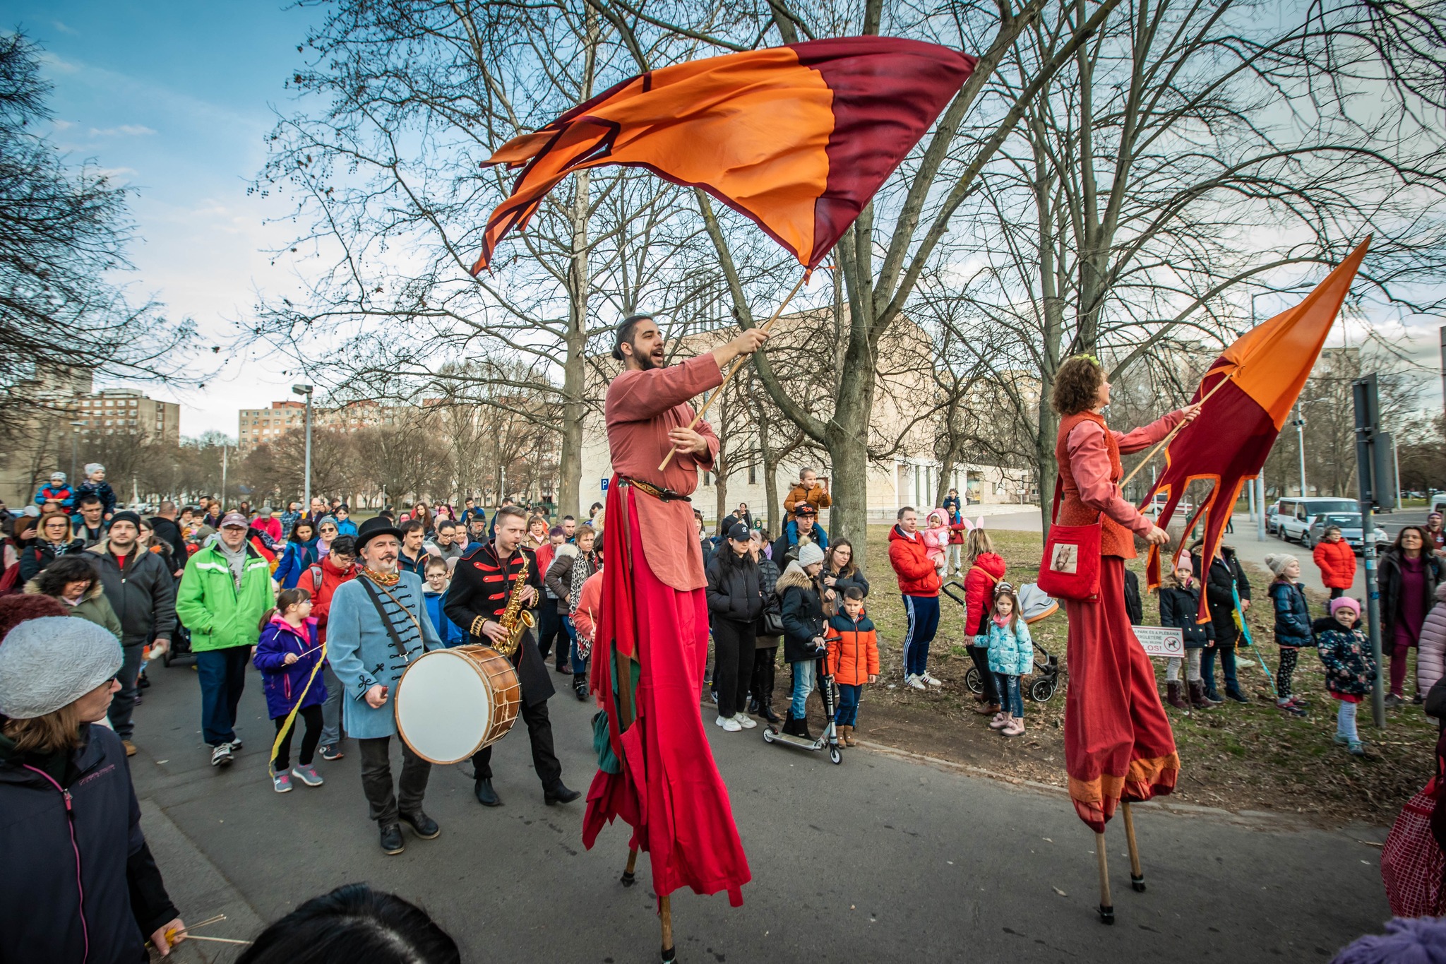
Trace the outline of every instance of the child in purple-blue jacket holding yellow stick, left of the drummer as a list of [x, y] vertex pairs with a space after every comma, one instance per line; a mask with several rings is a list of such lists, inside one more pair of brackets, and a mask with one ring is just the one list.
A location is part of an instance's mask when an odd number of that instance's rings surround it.
[[[278, 793], [291, 792], [292, 776], [307, 786], [321, 786], [312, 759], [321, 741], [321, 704], [327, 701], [327, 684], [317, 668], [322, 653], [317, 642], [317, 620], [311, 619], [311, 593], [296, 587], [276, 595], [276, 608], [262, 616], [262, 636], [256, 642], [253, 662], [262, 671], [266, 713], [276, 721], [276, 733], [286, 728], [276, 749], [272, 788]], [[286, 727], [286, 720], [298, 701], [298, 715], [307, 723], [307, 733], [301, 737], [296, 766], [288, 773], [291, 734], [296, 727]]]

